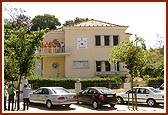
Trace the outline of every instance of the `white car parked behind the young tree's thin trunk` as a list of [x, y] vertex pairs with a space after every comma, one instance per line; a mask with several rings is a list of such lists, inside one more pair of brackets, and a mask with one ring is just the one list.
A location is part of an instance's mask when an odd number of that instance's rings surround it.
[[[137, 103], [147, 103], [148, 106], [155, 106], [157, 104], [164, 103], [164, 93], [153, 87], [134, 87], [133, 91], [136, 92]], [[132, 101], [132, 90], [126, 92], [117, 93], [117, 103], [128, 103]], [[135, 93], [134, 93], [135, 94]], [[133, 95], [134, 96], [134, 95]], [[134, 97], [135, 98], [135, 97]]]

